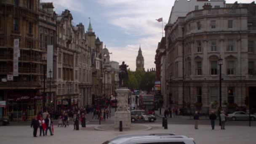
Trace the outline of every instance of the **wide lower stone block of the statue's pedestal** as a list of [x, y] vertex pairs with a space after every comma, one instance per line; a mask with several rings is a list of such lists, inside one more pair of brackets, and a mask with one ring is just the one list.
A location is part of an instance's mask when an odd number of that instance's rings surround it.
[[114, 128], [119, 128], [119, 122], [123, 122], [123, 128], [131, 128], [131, 112], [130, 111], [117, 111], [115, 112], [115, 125]]

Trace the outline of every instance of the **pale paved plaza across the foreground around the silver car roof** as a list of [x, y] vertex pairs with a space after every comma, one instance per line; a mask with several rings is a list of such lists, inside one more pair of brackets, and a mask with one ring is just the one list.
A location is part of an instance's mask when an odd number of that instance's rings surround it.
[[[81, 125], [80, 125], [81, 126]], [[1, 144], [101, 144], [104, 141], [115, 136], [138, 133], [174, 133], [184, 135], [195, 139], [196, 144], [255, 144], [256, 127], [248, 126], [227, 126], [226, 130], [221, 130], [216, 126], [211, 130], [210, 125], [199, 125], [195, 130], [194, 125], [168, 125], [165, 130], [161, 125], [149, 125], [152, 127], [148, 131], [97, 131], [94, 129], [97, 125], [87, 125], [79, 131], [73, 130], [73, 125], [67, 128], [54, 128], [53, 136], [39, 137], [39, 131], [36, 138], [33, 137], [33, 128], [29, 125], [21, 126], [1, 126], [0, 143]]]

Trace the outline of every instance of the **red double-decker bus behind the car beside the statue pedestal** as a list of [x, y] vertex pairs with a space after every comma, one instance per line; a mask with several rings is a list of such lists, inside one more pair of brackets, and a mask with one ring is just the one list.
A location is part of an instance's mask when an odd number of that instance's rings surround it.
[[155, 113], [155, 97], [154, 95], [139, 95], [139, 107], [144, 109], [149, 115]]

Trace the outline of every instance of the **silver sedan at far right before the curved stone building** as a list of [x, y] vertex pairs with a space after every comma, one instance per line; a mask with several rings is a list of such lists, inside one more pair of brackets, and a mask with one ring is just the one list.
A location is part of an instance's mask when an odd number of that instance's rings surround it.
[[[249, 120], [249, 114], [245, 112], [233, 112], [227, 115], [227, 120]], [[251, 115], [251, 120], [256, 120], [256, 115]]]

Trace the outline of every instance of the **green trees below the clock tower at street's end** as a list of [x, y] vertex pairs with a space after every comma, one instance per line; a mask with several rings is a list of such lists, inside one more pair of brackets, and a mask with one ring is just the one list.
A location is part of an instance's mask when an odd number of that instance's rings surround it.
[[140, 89], [142, 91], [152, 91], [155, 87], [155, 72], [128, 71], [128, 88]]

